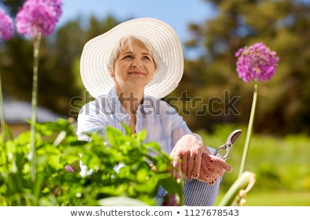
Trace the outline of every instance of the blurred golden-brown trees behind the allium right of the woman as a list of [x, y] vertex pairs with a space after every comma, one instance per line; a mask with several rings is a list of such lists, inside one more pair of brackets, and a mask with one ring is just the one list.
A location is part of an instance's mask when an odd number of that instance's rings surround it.
[[[185, 43], [187, 48], [200, 48], [205, 53], [186, 61], [185, 80], [174, 93], [187, 90], [192, 98], [202, 97], [203, 104], [209, 104], [209, 112], [189, 120], [189, 125], [193, 129], [211, 129], [218, 122], [247, 124], [254, 84], [238, 78], [234, 54], [240, 47], [262, 42], [277, 52], [280, 63], [275, 76], [258, 86], [258, 96], [263, 97], [258, 98], [254, 130], [310, 133], [310, 1], [208, 3], [213, 4], [218, 15], [189, 25], [193, 39]], [[187, 85], [192, 85], [191, 89]], [[240, 97], [235, 104], [239, 114], [230, 111], [232, 100], [229, 105], [227, 93], [229, 100]], [[217, 109], [212, 109], [212, 100]]]

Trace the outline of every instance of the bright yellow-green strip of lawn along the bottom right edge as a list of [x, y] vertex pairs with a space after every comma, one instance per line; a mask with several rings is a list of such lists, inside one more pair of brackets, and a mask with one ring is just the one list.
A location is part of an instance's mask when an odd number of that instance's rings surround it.
[[[223, 198], [218, 195], [214, 206]], [[249, 191], [243, 206], [310, 206], [310, 192]]]

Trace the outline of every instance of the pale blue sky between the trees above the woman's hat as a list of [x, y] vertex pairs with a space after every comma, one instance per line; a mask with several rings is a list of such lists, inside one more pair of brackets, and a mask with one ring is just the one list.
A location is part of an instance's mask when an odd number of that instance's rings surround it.
[[190, 39], [189, 23], [202, 23], [216, 15], [204, 0], [63, 0], [62, 9], [59, 25], [90, 15], [98, 19], [112, 15], [121, 21], [139, 17], [161, 19], [176, 30], [181, 43]]

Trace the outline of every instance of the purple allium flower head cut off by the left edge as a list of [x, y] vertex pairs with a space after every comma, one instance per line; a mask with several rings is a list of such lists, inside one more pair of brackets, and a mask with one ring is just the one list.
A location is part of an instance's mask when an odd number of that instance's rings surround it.
[[0, 41], [8, 41], [13, 36], [14, 24], [6, 12], [0, 8]]

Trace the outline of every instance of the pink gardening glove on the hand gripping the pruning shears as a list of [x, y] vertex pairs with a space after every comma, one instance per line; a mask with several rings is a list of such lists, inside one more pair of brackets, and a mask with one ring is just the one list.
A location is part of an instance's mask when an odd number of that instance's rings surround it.
[[216, 157], [208, 153], [203, 153], [201, 159], [200, 172], [196, 179], [205, 181], [209, 185], [213, 185], [218, 177], [226, 172], [231, 172], [232, 168], [224, 159]]

